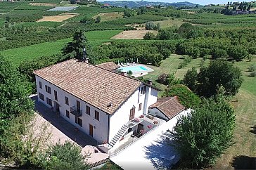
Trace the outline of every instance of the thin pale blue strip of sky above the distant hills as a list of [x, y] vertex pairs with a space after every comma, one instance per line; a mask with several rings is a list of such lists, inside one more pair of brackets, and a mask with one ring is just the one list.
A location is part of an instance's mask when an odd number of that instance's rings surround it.
[[[117, 0], [98, 0], [98, 1], [117, 1]], [[120, 1], [123, 1], [123, 0], [120, 0]], [[140, 0], [124, 0], [124, 1], [140, 1]], [[170, 3], [188, 1], [193, 4], [206, 5], [206, 4], [227, 4], [229, 0], [144, 0], [144, 1], [161, 1], [161, 2], [170, 2]]]

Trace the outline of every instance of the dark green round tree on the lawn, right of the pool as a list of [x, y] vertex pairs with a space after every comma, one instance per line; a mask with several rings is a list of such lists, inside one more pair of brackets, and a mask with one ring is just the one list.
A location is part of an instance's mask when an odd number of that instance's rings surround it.
[[219, 86], [224, 86], [224, 95], [235, 95], [243, 82], [241, 70], [223, 60], [212, 61], [208, 67], [200, 68], [197, 80], [198, 95], [207, 98], [215, 96]]

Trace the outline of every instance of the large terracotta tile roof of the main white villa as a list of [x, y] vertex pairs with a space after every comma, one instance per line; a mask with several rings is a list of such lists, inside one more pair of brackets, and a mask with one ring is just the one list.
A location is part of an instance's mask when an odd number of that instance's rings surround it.
[[[34, 74], [110, 115], [142, 84], [75, 59], [34, 71]], [[113, 105], [109, 106], [110, 103]]]

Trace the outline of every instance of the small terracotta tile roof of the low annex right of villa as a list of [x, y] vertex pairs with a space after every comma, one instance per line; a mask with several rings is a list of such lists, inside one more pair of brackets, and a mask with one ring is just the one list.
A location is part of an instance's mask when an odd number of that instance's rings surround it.
[[172, 117], [185, 110], [185, 107], [179, 103], [177, 96], [158, 98], [157, 103], [151, 105], [149, 108], [158, 108], [169, 119], [172, 119]]

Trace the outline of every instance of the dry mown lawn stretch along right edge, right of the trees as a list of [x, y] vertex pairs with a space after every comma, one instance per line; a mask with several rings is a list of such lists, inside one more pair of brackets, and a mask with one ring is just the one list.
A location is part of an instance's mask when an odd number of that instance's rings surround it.
[[256, 130], [252, 128], [256, 126], [256, 77], [248, 77], [247, 72], [252, 64], [256, 65], [256, 58], [252, 62], [235, 63], [241, 68], [244, 78], [241, 89], [231, 102], [236, 113], [235, 144], [226, 150], [212, 169], [251, 169], [253, 166], [252, 157], [256, 157]]

